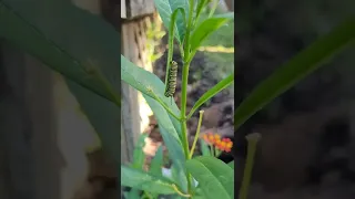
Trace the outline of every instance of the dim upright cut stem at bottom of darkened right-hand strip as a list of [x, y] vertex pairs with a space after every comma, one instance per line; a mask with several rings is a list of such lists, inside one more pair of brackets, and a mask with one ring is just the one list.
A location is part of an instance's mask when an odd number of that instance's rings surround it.
[[258, 133], [253, 133], [246, 136], [247, 155], [246, 155], [246, 163], [245, 163], [243, 181], [242, 181], [239, 199], [246, 199], [247, 197], [248, 186], [252, 179], [252, 170], [254, 165], [256, 145], [260, 139], [261, 139], [261, 134]]

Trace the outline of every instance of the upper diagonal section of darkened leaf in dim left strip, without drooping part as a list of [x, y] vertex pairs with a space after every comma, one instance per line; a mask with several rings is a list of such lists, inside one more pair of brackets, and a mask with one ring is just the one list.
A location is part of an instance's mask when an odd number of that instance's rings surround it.
[[[63, 74], [69, 80], [120, 105], [120, 101], [118, 101], [119, 96], [114, 96], [119, 95], [119, 90], [115, 90], [116, 93], [114, 94], [111, 93], [110, 90], [105, 87], [102, 80], [90, 75], [84, 70], [87, 66], [85, 64], [97, 57], [88, 54], [89, 56], [87, 55], [87, 59], [84, 59], [82, 57], [82, 54], [73, 53], [72, 49], [77, 46], [73, 46], [73, 43], [70, 43], [75, 41], [77, 45], [81, 45], [81, 43], [84, 43], [87, 40], [92, 40], [93, 38], [90, 36], [97, 34], [98, 31], [93, 31], [89, 34], [88, 31], [90, 32], [90, 30], [100, 29], [99, 27], [104, 30], [109, 29], [109, 32], [105, 33], [110, 35], [109, 38], [112, 38], [112, 32], [114, 36], [119, 36], [116, 31], [104, 23], [104, 21], [101, 21], [93, 14], [80, 10], [72, 4], [58, 2], [50, 3], [51, 1], [44, 2], [34, 0], [0, 1], [0, 36], [27, 51], [29, 54], [39, 59], [52, 70]], [[44, 11], [39, 11], [41, 9]], [[45, 21], [45, 19], [48, 19], [47, 17], [52, 19], [51, 24], [49, 21]], [[92, 21], [92, 27], [80, 25], [88, 21]], [[67, 30], [70, 30], [70, 34], [63, 32]], [[55, 31], [62, 32], [62, 34], [65, 35], [55, 33]], [[82, 33], [87, 32], [87, 34], [84, 36], [77, 34], [77, 32], [80, 31]], [[81, 36], [81, 39], [79, 36]], [[64, 38], [67, 38], [67, 41]], [[116, 41], [116, 44], [119, 44], [119, 40]], [[99, 41], [97, 40], [97, 42]], [[115, 41], [113, 40], [111, 42], [114, 43]], [[99, 60], [95, 61], [98, 61], [98, 70], [103, 70], [99, 67], [102, 66]], [[115, 59], [115, 64], [118, 70], [118, 59]]]

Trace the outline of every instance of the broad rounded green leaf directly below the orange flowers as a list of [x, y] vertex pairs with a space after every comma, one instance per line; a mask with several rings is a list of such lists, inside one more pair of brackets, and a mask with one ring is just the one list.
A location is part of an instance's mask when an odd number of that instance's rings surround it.
[[206, 199], [234, 198], [234, 171], [220, 159], [200, 156], [187, 160], [186, 168], [199, 181]]

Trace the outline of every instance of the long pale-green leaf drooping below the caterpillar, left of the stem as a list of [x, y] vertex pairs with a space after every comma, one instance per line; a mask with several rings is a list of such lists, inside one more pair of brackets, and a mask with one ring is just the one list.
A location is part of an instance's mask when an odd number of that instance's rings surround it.
[[[176, 163], [176, 167], [179, 167], [180, 176], [182, 178], [182, 176], [185, 176], [185, 158], [180, 139], [180, 123], [178, 119], [169, 115], [168, 112], [162, 107], [162, 105], [160, 105], [154, 98], [151, 97], [152, 94], [148, 92], [148, 87], [151, 92], [154, 93], [155, 96], [160, 97], [161, 101], [164, 102], [175, 115], [180, 115], [180, 111], [176, 104], [174, 102], [171, 104], [171, 100], [164, 96], [163, 92], [165, 85], [156, 75], [139, 66], [135, 66], [124, 56], [121, 56], [121, 78], [132, 87], [143, 93], [146, 103], [149, 104], [158, 119], [161, 135], [164, 139], [165, 145], [168, 146], [169, 154], [174, 157], [173, 161]], [[179, 182], [184, 184], [183, 179], [181, 179]], [[185, 185], [181, 185], [181, 187], [185, 187]]]

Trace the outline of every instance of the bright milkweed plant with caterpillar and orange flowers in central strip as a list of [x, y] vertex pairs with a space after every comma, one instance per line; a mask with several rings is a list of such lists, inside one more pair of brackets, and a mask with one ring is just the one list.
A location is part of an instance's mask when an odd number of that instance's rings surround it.
[[[234, 163], [227, 165], [216, 157], [222, 151], [231, 153], [233, 143], [227, 138], [221, 138], [217, 134], [200, 135], [203, 118], [201, 109], [195, 137], [190, 146], [186, 122], [201, 105], [233, 83], [234, 72], [203, 94], [190, 113], [186, 112], [186, 98], [190, 63], [197, 49], [209, 35], [227, 25], [227, 22], [234, 19], [234, 12], [214, 14], [219, 6], [217, 0], [154, 0], [154, 3], [169, 31], [165, 83], [161, 84], [159, 90], [153, 87], [151, 82], [139, 84], [145, 86], [142, 93], [158, 119], [172, 160], [172, 174], [164, 175], [161, 169], [163, 159], [161, 148], [156, 151], [150, 169], [146, 171], [142, 169], [143, 138], [140, 138], [133, 155], [133, 164], [121, 166], [121, 185], [131, 187], [124, 196], [129, 199], [158, 198], [162, 195], [170, 195], [173, 198], [232, 199]], [[209, 4], [212, 7], [207, 8]], [[209, 17], [202, 19], [203, 12], [209, 12]], [[174, 44], [179, 46], [174, 48]], [[182, 65], [172, 60], [174, 49], [180, 50]], [[181, 109], [173, 102], [178, 70], [182, 70]], [[202, 156], [194, 155], [197, 143], [201, 144]]]

